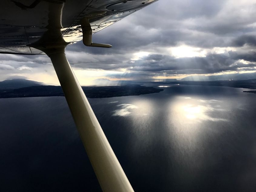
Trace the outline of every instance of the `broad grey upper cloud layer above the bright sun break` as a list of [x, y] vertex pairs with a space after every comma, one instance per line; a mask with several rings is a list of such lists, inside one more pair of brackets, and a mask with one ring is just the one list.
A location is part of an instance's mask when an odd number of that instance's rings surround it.
[[[239, 33], [255, 31], [250, 24], [254, 23], [256, 7], [251, 9], [246, 12], [248, 15], [241, 15], [228, 1], [160, 0], [93, 35], [93, 41], [109, 43], [113, 48], [91, 48], [79, 42], [68, 46], [68, 50], [127, 54], [141, 50], [154, 52], [158, 47], [179, 44], [200, 48], [237, 46], [239, 40], [234, 38]], [[250, 39], [245, 39], [239, 46], [244, 45], [244, 41], [252, 44]]]

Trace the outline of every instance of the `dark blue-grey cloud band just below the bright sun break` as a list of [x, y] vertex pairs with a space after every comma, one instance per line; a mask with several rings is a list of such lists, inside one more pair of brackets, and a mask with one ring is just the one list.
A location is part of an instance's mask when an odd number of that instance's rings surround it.
[[[232, 52], [232, 54], [234, 54]], [[238, 54], [237, 54], [238, 55]], [[155, 60], [155, 58], [157, 60]], [[183, 74], [184, 70], [197, 70], [198, 73], [217, 73], [236, 71], [238, 68], [256, 67], [255, 64], [242, 64], [229, 54], [209, 54], [206, 57], [174, 58], [163, 55], [149, 55], [142, 60], [130, 64], [130, 71], [165, 72], [176, 71]]]

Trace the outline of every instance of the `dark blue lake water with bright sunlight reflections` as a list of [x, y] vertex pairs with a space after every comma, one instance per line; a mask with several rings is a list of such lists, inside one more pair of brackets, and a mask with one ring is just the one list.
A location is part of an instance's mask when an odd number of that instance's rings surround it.
[[[255, 191], [256, 94], [88, 99], [135, 191]], [[0, 191], [100, 191], [64, 97], [0, 99]]]

